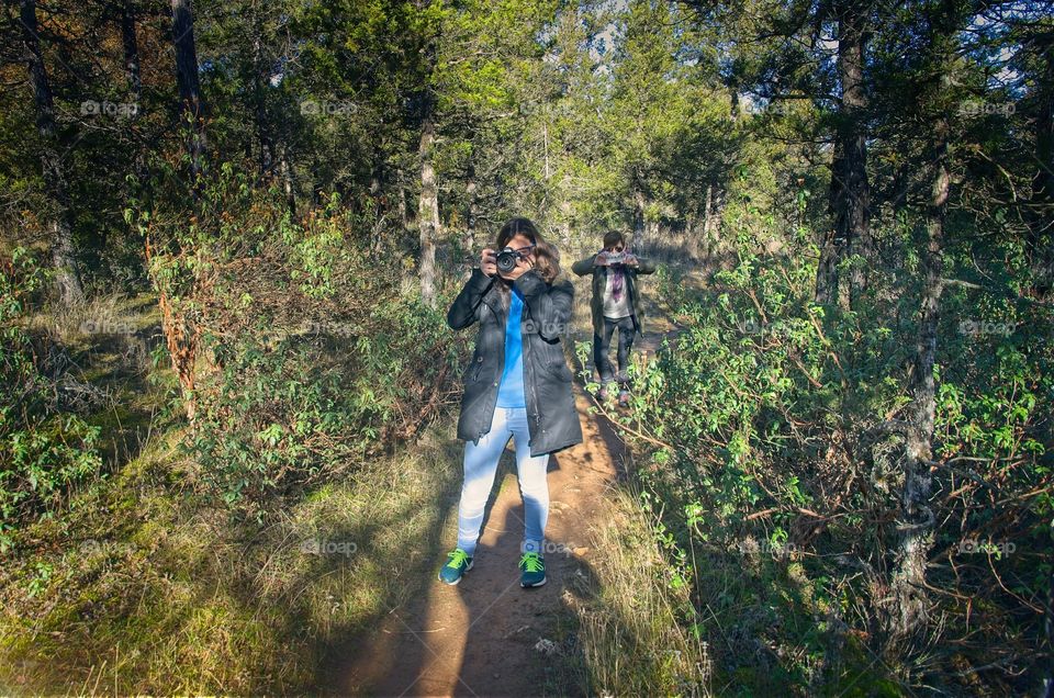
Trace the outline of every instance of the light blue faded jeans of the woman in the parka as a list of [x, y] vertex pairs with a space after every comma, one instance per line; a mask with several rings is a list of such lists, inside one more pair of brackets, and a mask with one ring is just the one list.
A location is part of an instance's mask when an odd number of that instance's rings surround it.
[[549, 454], [531, 458], [527, 446], [526, 407], [495, 407], [491, 430], [480, 438], [479, 444], [464, 442], [464, 482], [461, 485], [461, 504], [458, 507], [458, 548], [470, 556], [475, 554], [475, 543], [483, 522], [483, 509], [494, 486], [497, 461], [509, 437], [516, 447], [516, 472], [519, 495], [524, 500], [524, 540], [520, 552], [542, 552], [546, 521], [549, 518], [549, 482], [546, 466]]

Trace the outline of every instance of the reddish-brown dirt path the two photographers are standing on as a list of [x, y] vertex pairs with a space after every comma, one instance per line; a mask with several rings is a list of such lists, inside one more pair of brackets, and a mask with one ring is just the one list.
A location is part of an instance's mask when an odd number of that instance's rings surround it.
[[[647, 308], [646, 331], [637, 337], [633, 351], [653, 354], [679, 328], [653, 302], [647, 302]], [[580, 305], [575, 317], [572, 338], [591, 340], [587, 307], [583, 312]], [[576, 375], [580, 369], [574, 367]], [[594, 533], [617, 518], [607, 492], [628, 476], [630, 455], [617, 426], [596, 414], [595, 399], [580, 381], [573, 391], [583, 442], [549, 460], [547, 584], [519, 586], [524, 506], [509, 442], [473, 568], [459, 584], [448, 586], [435, 578], [444, 561], [434, 561], [424, 593], [392, 608], [365, 637], [349, 641], [346, 658], [336, 663], [326, 689], [375, 696], [540, 696], [582, 690], [581, 685], [568, 685], [574, 667], [584, 664], [581, 657], [569, 656], [578, 650], [571, 607], [595, 592], [591, 560], [607, 551], [597, 549]], [[444, 539], [452, 541], [457, 500], [449, 511]]]

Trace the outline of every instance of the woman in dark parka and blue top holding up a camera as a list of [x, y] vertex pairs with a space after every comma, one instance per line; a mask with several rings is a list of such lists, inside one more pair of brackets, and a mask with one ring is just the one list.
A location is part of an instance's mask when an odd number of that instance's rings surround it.
[[[506, 249], [519, 257], [512, 271], [502, 273], [496, 255]], [[475, 351], [462, 373], [458, 438], [466, 442], [464, 481], [458, 545], [439, 570], [447, 584], [457, 584], [472, 568], [483, 510], [509, 438], [525, 511], [520, 586], [546, 583], [549, 454], [582, 442], [560, 340], [571, 320], [574, 288], [559, 274], [557, 249], [529, 219], [513, 218], [498, 233], [495, 249], [481, 252], [480, 267], [447, 313], [452, 329], [479, 324]]]

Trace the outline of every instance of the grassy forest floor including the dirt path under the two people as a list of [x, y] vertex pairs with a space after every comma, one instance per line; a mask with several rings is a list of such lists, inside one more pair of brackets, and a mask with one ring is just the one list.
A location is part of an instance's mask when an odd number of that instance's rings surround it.
[[[592, 329], [588, 286], [576, 281], [568, 344], [581, 351]], [[644, 285], [635, 352], [679, 331], [658, 296]], [[475, 566], [450, 587], [436, 572], [457, 534], [463, 442], [452, 415], [264, 529], [235, 526], [178, 484], [193, 462], [177, 448], [178, 420], [156, 419], [170, 383], [148, 380], [160, 341], [152, 299], [102, 299], [83, 315], [127, 329], [83, 331], [71, 316], [60, 334], [75, 387], [98, 383], [105, 397], [89, 415], [105, 435], [105, 465], [3, 558], [0, 694], [584, 695], [608, 685], [604, 672], [636, 676], [635, 662], [647, 668], [674, 646], [663, 633], [675, 620], [652, 594], [659, 551], [628, 486], [632, 454], [582, 381], [583, 443], [549, 462], [548, 583], [519, 586], [509, 448]], [[362, 554], [305, 552], [319, 537]]]

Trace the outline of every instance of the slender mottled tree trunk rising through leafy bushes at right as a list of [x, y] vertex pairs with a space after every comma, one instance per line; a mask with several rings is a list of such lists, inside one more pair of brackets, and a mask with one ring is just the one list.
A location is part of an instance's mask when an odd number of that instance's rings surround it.
[[913, 399], [908, 428], [904, 494], [905, 521], [900, 525], [899, 560], [892, 590], [896, 617], [892, 618], [894, 637], [906, 637], [927, 620], [926, 565], [933, 545], [934, 516], [930, 509], [932, 475], [933, 419], [937, 389], [933, 365], [937, 360], [937, 326], [943, 289], [944, 217], [951, 174], [948, 162], [948, 122], [934, 124], [937, 138], [937, 173], [927, 209], [927, 248], [923, 255], [926, 286], [922, 292], [921, 317], [916, 341], [915, 367], [910, 394]]

